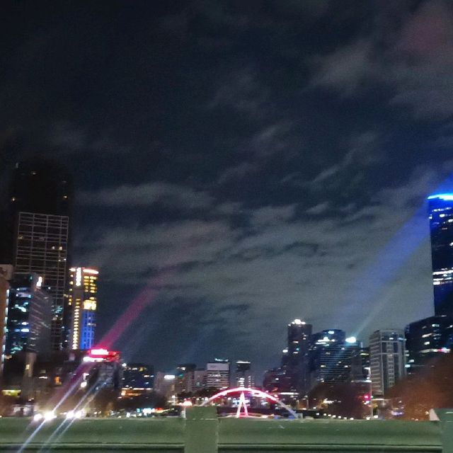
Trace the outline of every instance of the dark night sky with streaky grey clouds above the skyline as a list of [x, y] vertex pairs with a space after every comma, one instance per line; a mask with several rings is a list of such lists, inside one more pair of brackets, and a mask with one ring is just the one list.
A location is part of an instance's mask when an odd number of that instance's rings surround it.
[[[98, 338], [171, 371], [278, 365], [288, 321], [433, 314], [425, 197], [453, 190], [451, 1], [2, 1], [0, 191], [74, 175]], [[146, 299], [146, 300], [144, 300]], [[132, 309], [132, 314], [138, 311]]]

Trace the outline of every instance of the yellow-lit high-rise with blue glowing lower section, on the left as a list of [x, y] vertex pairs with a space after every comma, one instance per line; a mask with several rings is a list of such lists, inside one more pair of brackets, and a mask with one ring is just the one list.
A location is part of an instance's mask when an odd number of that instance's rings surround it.
[[94, 344], [96, 305], [98, 301], [98, 270], [69, 270], [68, 316], [71, 316], [69, 345], [71, 349], [90, 349]]

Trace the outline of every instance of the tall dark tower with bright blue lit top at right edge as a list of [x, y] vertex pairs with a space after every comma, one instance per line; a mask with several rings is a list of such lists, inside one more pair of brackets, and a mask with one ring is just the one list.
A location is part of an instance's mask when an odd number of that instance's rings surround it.
[[436, 315], [453, 316], [453, 194], [428, 197]]

